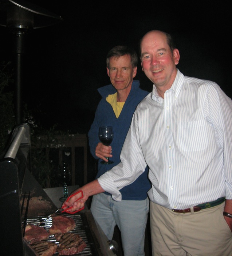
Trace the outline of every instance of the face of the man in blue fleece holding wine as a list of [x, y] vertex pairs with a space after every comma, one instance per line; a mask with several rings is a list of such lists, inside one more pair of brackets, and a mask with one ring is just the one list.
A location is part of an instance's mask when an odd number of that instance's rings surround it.
[[131, 64], [131, 58], [129, 55], [123, 55], [120, 57], [111, 57], [109, 68], [107, 67], [107, 74], [110, 77], [110, 82], [114, 88], [130, 92], [133, 78], [137, 73], [137, 67], [133, 68]]

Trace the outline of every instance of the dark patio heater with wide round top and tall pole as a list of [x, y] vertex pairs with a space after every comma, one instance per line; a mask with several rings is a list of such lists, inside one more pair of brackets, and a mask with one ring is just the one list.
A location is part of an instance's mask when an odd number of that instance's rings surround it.
[[[15, 109], [16, 123], [21, 124], [21, 77], [22, 60], [26, 52], [26, 38], [30, 31], [54, 25], [63, 19], [50, 11], [28, 3], [24, 0], [0, 0], [0, 25], [7, 27], [12, 34], [14, 76], [15, 76]], [[3, 40], [3, 39], [1, 39]]]

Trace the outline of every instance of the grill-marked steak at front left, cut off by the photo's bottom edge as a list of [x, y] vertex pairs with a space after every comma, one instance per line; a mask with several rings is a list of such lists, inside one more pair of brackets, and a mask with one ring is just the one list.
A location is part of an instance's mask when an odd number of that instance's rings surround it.
[[38, 253], [40, 256], [52, 256], [56, 253], [57, 244], [54, 242], [47, 241], [37, 241], [34, 242], [31, 247]]

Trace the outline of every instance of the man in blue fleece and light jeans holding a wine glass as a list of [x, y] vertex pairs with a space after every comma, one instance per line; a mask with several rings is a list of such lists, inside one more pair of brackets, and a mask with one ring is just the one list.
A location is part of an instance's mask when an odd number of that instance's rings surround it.
[[[120, 153], [135, 108], [148, 95], [148, 91], [139, 88], [139, 81], [133, 80], [137, 63], [136, 52], [127, 46], [115, 46], [107, 54], [107, 74], [111, 84], [98, 89], [102, 99], [88, 133], [90, 152], [98, 159], [96, 178], [120, 162]], [[114, 130], [110, 146], [104, 146], [98, 138], [99, 127], [105, 125], [112, 126]], [[101, 164], [102, 159], [108, 161], [106, 157], [110, 157], [114, 163]], [[109, 240], [113, 238], [114, 227], [118, 225], [124, 256], [145, 255], [144, 240], [149, 211], [147, 192], [150, 188], [146, 167], [137, 180], [120, 190], [121, 202], [114, 201], [107, 192], [93, 196], [91, 212], [94, 218]]]

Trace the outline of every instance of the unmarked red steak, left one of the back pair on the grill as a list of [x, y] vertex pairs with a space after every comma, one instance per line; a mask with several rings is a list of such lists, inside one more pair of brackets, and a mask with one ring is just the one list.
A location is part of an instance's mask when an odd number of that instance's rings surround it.
[[49, 233], [43, 227], [36, 225], [27, 225], [25, 227], [24, 239], [30, 244], [33, 244], [36, 241], [46, 240], [49, 237]]

